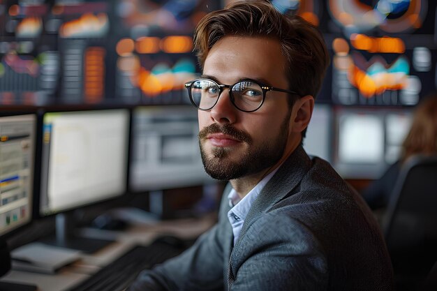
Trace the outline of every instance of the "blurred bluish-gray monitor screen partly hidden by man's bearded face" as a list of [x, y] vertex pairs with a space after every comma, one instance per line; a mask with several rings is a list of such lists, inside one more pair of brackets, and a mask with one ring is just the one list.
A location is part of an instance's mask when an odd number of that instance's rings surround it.
[[133, 112], [132, 191], [202, 185], [198, 111], [188, 106], [140, 106]]

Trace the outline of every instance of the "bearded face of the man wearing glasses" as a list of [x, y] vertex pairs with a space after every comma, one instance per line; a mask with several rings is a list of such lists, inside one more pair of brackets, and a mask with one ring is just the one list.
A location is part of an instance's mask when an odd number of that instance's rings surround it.
[[[286, 59], [277, 40], [226, 36], [210, 50], [203, 77], [218, 84], [242, 79], [258, 80], [288, 89]], [[206, 172], [215, 179], [231, 180], [258, 174], [275, 165], [300, 134], [290, 133], [288, 94], [267, 91], [265, 102], [255, 112], [242, 112], [232, 105], [228, 89], [209, 111], [199, 111], [199, 142]]]

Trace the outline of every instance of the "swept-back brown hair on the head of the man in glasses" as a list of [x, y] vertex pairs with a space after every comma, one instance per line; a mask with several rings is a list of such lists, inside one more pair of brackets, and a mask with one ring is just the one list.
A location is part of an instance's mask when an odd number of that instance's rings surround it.
[[[203, 68], [209, 50], [224, 36], [266, 36], [281, 43], [285, 72], [291, 90], [316, 98], [329, 65], [320, 31], [299, 16], [279, 13], [269, 1], [237, 1], [200, 20], [194, 33], [194, 50]], [[292, 104], [290, 104], [292, 105]]]

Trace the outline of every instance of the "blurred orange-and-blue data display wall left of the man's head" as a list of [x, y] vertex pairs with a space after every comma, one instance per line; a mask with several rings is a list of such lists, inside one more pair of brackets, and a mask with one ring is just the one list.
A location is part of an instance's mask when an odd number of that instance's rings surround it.
[[195, 24], [218, 8], [213, 0], [0, 0], [0, 104], [186, 103], [184, 82], [199, 73]]

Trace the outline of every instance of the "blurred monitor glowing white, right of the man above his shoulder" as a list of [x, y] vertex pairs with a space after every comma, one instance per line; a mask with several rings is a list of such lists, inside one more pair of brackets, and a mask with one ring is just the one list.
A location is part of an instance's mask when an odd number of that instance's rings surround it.
[[337, 108], [334, 167], [345, 179], [378, 179], [399, 158], [410, 122], [408, 108]]

